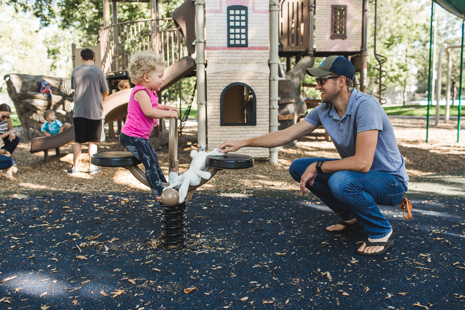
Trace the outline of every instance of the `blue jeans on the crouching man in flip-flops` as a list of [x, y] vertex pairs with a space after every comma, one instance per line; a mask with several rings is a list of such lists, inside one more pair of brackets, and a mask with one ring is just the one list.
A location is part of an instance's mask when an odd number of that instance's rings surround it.
[[[293, 161], [289, 173], [300, 182], [307, 167], [318, 161], [337, 159], [300, 158]], [[313, 186], [306, 187], [324, 202], [341, 220], [356, 218], [372, 239], [385, 237], [392, 226], [376, 204], [397, 205], [401, 203], [406, 187], [387, 172], [370, 170], [367, 173], [339, 171], [318, 173]]]

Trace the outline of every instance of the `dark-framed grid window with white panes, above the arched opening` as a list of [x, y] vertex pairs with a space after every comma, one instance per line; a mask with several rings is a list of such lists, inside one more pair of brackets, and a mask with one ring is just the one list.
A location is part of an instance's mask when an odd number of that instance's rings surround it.
[[228, 47], [248, 47], [247, 6], [228, 6]]

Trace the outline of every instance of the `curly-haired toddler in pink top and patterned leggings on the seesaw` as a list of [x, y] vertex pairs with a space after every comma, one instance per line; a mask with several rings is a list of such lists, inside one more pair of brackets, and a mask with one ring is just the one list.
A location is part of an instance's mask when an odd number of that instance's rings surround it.
[[165, 81], [165, 67], [163, 56], [152, 51], [141, 51], [131, 56], [127, 70], [131, 82], [136, 86], [129, 97], [126, 122], [120, 133], [124, 148], [143, 163], [147, 181], [158, 200], [163, 191], [162, 182], [167, 182], [149, 136], [158, 119], [177, 119], [179, 114], [175, 107], [158, 104], [156, 92]]

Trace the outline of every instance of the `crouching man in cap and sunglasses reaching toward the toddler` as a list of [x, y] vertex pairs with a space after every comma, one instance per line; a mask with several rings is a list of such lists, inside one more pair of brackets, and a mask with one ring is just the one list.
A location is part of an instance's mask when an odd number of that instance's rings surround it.
[[322, 104], [304, 121], [247, 140], [224, 141], [224, 153], [246, 146], [277, 147], [323, 126], [341, 159], [301, 158], [289, 167], [302, 195], [307, 189], [321, 199], [341, 221], [326, 231], [343, 233], [365, 229], [368, 239], [360, 255], [380, 255], [393, 245], [392, 226], [376, 204], [409, 203], [408, 175], [386, 112], [373, 96], [353, 88], [354, 66], [342, 56], [330, 56], [318, 67], [307, 69], [317, 77]]

